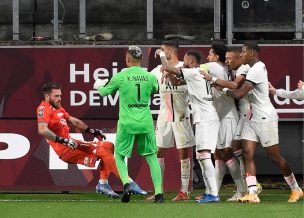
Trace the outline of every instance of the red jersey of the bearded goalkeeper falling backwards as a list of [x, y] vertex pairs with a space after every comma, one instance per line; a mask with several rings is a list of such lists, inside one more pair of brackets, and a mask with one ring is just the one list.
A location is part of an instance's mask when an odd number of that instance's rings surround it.
[[[52, 132], [64, 138], [70, 138], [70, 127], [67, 125], [67, 120], [69, 118], [70, 114], [66, 112], [63, 107], [56, 109], [45, 101], [42, 101], [37, 108], [38, 123], [47, 123], [48, 128]], [[60, 155], [63, 150], [66, 150], [68, 148], [67, 146], [60, 143], [56, 143], [53, 140], [47, 141], [58, 155]]]

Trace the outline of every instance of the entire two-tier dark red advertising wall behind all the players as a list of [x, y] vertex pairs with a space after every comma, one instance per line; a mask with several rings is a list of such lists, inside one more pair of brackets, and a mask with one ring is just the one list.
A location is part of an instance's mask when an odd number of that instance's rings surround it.
[[[143, 66], [152, 70], [159, 64], [154, 58], [157, 47], [142, 46]], [[63, 163], [37, 133], [36, 107], [42, 99], [42, 86], [53, 81], [62, 84], [63, 105], [73, 116], [92, 127], [103, 129], [115, 142], [118, 118], [118, 95], [100, 97], [92, 89], [96, 78], [111, 77], [125, 68], [127, 46], [115, 47], [1, 47], [0, 48], [0, 190], [70, 191], [94, 190], [96, 169]], [[303, 45], [264, 45], [261, 60], [275, 87], [294, 90], [303, 80]], [[209, 46], [199, 49], [205, 56]], [[281, 152], [295, 174], [303, 175], [303, 104], [304, 101], [277, 99], [271, 96], [279, 116]], [[151, 100], [154, 118], [159, 95]], [[72, 130], [74, 137], [83, 137]], [[88, 137], [88, 136], [84, 136]], [[92, 140], [85, 138], [85, 140]], [[178, 191], [179, 158], [175, 149], [166, 159], [165, 191]], [[256, 155], [257, 173], [279, 174], [261, 148]], [[149, 168], [136, 152], [129, 160], [130, 175], [144, 189], [152, 191]], [[148, 178], [148, 179], [147, 179]], [[118, 179], [111, 177], [115, 190]]]

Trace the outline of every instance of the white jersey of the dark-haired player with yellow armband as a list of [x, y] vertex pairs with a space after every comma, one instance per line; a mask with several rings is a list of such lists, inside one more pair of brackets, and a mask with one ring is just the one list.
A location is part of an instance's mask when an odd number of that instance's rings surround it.
[[[216, 62], [207, 63], [209, 74], [222, 80], [229, 80], [229, 73], [227, 68], [221, 66]], [[224, 95], [222, 92], [213, 88], [213, 103], [216, 111], [219, 114], [220, 119], [223, 118], [234, 118], [238, 119], [238, 111], [236, 109], [234, 99], [230, 96]]]

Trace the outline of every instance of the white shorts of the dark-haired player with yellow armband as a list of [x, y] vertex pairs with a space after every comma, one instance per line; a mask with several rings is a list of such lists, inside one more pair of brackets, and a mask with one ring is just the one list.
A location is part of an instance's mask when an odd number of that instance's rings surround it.
[[235, 134], [237, 120], [234, 118], [224, 118], [220, 122], [220, 130], [217, 140], [217, 149], [224, 149], [231, 147], [231, 141]]

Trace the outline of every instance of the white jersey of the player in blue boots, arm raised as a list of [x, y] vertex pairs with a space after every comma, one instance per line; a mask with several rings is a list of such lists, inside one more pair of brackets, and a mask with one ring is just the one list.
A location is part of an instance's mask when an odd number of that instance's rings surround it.
[[199, 72], [199, 68], [182, 68], [182, 77], [187, 82], [193, 123], [208, 120], [219, 120], [213, 105], [213, 96], [210, 81], [206, 81]]

